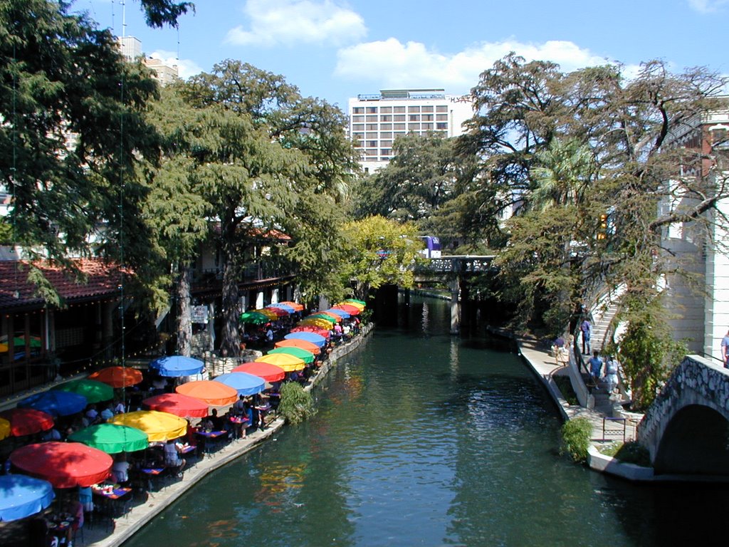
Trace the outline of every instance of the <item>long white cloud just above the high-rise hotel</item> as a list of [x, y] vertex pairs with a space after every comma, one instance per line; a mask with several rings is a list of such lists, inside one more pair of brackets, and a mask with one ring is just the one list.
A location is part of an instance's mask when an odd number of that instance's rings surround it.
[[563, 71], [612, 62], [572, 42], [558, 40], [542, 44], [482, 42], [445, 55], [427, 50], [420, 42], [402, 44], [389, 38], [340, 50], [335, 74], [354, 81], [378, 82], [381, 88], [440, 87], [450, 93], [466, 93], [477, 84], [481, 72], [512, 51], [527, 61], [553, 61]]

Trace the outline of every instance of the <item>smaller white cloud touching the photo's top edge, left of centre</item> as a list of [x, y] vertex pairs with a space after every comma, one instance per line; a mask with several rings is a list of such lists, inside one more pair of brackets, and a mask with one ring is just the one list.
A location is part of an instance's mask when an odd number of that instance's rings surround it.
[[228, 31], [231, 44], [341, 45], [367, 34], [361, 15], [332, 0], [248, 0], [243, 11], [250, 19], [250, 29], [237, 26]]

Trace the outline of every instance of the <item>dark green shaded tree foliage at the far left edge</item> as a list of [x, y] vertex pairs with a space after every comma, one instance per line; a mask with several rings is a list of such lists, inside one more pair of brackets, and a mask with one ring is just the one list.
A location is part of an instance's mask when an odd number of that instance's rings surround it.
[[0, 4], [0, 54], [0, 184], [17, 244], [69, 267], [91, 252], [144, 265], [136, 165], [157, 154], [142, 114], [157, 93], [149, 71], [125, 63], [108, 31], [47, 0]]

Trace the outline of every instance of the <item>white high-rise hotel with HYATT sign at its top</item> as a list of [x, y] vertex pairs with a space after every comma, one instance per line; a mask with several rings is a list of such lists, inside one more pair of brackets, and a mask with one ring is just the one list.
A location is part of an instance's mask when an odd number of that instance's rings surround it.
[[443, 89], [381, 90], [349, 99], [349, 137], [362, 152], [364, 171], [373, 172], [392, 159], [392, 143], [408, 133], [445, 137], [464, 133], [473, 117], [469, 96], [446, 95]]

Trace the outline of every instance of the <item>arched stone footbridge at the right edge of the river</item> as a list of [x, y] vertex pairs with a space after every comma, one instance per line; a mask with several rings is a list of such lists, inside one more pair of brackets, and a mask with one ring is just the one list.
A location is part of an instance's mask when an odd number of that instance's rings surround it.
[[729, 476], [729, 370], [687, 355], [640, 422], [638, 439], [655, 475]]

